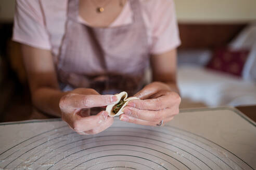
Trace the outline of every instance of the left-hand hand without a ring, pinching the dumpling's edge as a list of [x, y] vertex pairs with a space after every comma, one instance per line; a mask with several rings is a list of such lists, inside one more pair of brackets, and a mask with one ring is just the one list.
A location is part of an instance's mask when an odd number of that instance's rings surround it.
[[90, 116], [89, 108], [107, 106], [116, 101], [117, 96], [100, 95], [93, 89], [81, 88], [64, 95], [60, 99], [59, 107], [62, 120], [75, 132], [81, 135], [97, 134], [111, 126], [113, 118], [106, 111]]

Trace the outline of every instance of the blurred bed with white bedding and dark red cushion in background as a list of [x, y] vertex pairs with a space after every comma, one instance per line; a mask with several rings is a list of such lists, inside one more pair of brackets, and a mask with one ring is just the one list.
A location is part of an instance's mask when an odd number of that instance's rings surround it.
[[[178, 51], [177, 77], [182, 108], [256, 104], [256, 24], [248, 24], [241, 31], [238, 27], [228, 29], [226, 34], [231, 37], [225, 35], [226, 43], [223, 37], [214, 43], [214, 38], [208, 36], [202, 26], [201, 33], [204, 39], [212, 39], [211, 44], [198, 47], [190, 38], [187, 45], [190, 49]], [[215, 30], [212, 34], [218, 37], [218, 32], [225, 32], [222, 28], [223, 25], [212, 26]], [[238, 31], [233, 38], [232, 30]]]

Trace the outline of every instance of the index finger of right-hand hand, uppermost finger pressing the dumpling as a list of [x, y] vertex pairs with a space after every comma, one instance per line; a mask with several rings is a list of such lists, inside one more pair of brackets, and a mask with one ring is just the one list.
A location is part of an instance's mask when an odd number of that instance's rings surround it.
[[173, 105], [180, 105], [181, 97], [175, 92], [171, 92], [169, 95], [164, 95], [158, 98], [152, 98], [147, 100], [132, 100], [127, 103], [127, 106], [136, 107], [143, 110], [161, 110]]

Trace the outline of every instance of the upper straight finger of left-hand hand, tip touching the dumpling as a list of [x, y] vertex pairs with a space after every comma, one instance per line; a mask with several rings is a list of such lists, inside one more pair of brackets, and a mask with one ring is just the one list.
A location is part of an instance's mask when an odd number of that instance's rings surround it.
[[118, 100], [115, 95], [82, 95], [82, 94], [68, 94], [61, 98], [60, 108], [92, 108], [107, 106], [113, 104]]

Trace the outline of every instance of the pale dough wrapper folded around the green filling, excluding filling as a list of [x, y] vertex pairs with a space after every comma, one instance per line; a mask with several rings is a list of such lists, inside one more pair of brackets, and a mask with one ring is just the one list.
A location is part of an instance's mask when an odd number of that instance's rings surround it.
[[[127, 105], [127, 103], [129, 101], [139, 99], [138, 97], [128, 97], [127, 98], [128, 94], [126, 92], [121, 92], [119, 94], [116, 94], [116, 96], [118, 97], [117, 102], [115, 102], [112, 105], [108, 105], [107, 108], [106, 108], [106, 111], [108, 112], [108, 115], [111, 116], [111, 117], [122, 115], [124, 113], [123, 108]], [[121, 100], [123, 100], [125, 103], [123, 104], [123, 106], [119, 109], [119, 111], [116, 114], [115, 112], [113, 112], [113, 107], [116, 106], [117, 104], [119, 104], [119, 102]]]

